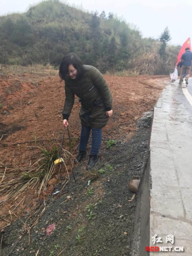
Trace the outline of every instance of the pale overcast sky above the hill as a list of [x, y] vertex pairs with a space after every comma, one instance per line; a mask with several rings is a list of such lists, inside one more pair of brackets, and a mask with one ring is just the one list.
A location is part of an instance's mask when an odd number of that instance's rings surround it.
[[[0, 15], [25, 12], [39, 0], [0, 0]], [[64, 2], [64, 1], [63, 1]], [[134, 23], [143, 37], [157, 38], [168, 26], [172, 44], [192, 39], [192, 0], [68, 0], [68, 3], [91, 11], [102, 10]]]

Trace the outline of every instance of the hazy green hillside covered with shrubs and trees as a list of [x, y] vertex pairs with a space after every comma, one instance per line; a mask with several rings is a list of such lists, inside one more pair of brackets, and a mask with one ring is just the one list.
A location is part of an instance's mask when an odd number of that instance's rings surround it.
[[178, 47], [170, 47], [162, 65], [158, 39], [142, 38], [112, 13], [90, 14], [59, 0], [40, 2], [23, 14], [1, 16], [0, 45], [0, 63], [58, 66], [66, 53], [75, 52], [101, 72], [137, 68], [139, 74], [151, 73], [150, 67], [139, 68], [140, 56], [147, 56], [146, 62], [155, 66], [153, 74], [167, 74], [178, 53]]

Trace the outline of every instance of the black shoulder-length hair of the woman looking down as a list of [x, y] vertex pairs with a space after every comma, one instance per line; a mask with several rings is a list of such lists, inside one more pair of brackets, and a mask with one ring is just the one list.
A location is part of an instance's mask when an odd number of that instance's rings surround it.
[[82, 61], [80, 60], [80, 58], [75, 53], [68, 53], [61, 60], [61, 64], [59, 66], [59, 76], [62, 80], [66, 79], [66, 76], [68, 74], [68, 67], [71, 64], [77, 70], [76, 79], [79, 80], [82, 77], [82, 75], [83, 75], [83, 63], [82, 63]]

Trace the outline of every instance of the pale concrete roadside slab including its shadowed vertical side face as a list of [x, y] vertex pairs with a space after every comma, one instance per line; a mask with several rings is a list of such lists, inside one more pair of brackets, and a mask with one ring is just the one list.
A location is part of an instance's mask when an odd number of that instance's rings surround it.
[[[163, 90], [154, 107], [148, 160], [139, 193], [131, 256], [159, 255], [146, 246], [172, 247], [167, 256], [192, 251], [192, 106], [178, 83]], [[161, 237], [161, 243], [152, 237]], [[174, 243], [166, 241], [174, 236]]]

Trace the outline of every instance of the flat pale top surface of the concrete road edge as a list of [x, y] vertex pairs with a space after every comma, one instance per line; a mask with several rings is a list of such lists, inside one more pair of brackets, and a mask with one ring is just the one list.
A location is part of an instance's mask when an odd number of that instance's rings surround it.
[[192, 79], [168, 85], [156, 104], [150, 176], [150, 246], [169, 247], [150, 255], [192, 255]]

